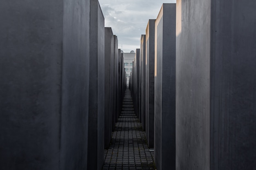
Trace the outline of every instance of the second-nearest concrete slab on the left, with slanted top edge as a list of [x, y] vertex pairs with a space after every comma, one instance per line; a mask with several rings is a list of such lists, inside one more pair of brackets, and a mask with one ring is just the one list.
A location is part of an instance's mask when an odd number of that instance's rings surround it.
[[101, 170], [104, 162], [105, 29], [98, 0], [90, 2], [88, 170]]

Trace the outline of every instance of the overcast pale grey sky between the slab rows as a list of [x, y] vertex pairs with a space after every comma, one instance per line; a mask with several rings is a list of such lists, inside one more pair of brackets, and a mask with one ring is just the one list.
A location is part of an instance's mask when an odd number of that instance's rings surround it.
[[139, 38], [146, 33], [149, 19], [156, 19], [163, 3], [176, 0], [99, 0], [105, 27], [112, 27], [118, 48], [125, 53], [139, 49]]

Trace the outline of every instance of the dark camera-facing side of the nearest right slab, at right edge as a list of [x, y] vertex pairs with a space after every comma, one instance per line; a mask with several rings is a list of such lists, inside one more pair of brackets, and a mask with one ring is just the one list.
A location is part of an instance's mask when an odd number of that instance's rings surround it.
[[256, 3], [211, 8], [211, 170], [256, 169]]

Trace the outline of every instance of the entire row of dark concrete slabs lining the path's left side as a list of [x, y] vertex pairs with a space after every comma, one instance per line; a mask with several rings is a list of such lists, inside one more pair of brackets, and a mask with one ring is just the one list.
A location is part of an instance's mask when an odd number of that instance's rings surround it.
[[101, 170], [126, 73], [98, 0], [4, 0], [0, 21], [0, 169]]

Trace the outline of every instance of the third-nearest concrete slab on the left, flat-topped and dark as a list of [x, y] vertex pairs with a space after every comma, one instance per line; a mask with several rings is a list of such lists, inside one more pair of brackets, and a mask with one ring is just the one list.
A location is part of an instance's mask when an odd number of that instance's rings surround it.
[[108, 148], [111, 138], [112, 138], [112, 112], [110, 111], [110, 106], [112, 104], [112, 99], [110, 97], [110, 92], [112, 87], [110, 86], [110, 65], [111, 57], [113, 57], [113, 45], [114, 45], [114, 35], [110, 27], [105, 28], [105, 125], [104, 134], [105, 142], [104, 147]]

